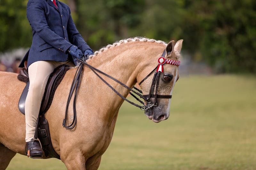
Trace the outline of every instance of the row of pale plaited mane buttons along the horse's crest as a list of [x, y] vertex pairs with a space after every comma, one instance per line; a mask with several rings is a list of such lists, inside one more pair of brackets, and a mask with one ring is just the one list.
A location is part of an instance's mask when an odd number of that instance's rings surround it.
[[109, 48], [114, 48], [116, 46], [120, 46], [121, 44], [127, 44], [130, 42], [152, 42], [152, 43], [158, 43], [158, 44], [165, 44], [167, 45], [164, 41], [161, 40], [155, 40], [155, 39], [148, 39], [148, 38], [143, 38], [143, 37], [134, 37], [134, 38], [129, 38], [129, 39], [121, 39], [120, 41], [114, 42], [112, 45], [109, 44], [105, 47], [100, 48], [100, 50], [95, 51], [93, 55], [89, 56], [89, 59], [91, 59], [93, 56], [98, 55], [99, 53], [102, 53], [104, 51], [107, 51]]

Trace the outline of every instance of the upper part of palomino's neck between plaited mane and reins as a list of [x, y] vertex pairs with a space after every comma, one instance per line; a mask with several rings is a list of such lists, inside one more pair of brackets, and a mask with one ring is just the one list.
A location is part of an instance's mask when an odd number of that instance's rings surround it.
[[[137, 78], [140, 79], [141, 75], [148, 74], [156, 67], [157, 59], [165, 47], [165, 44], [156, 42], [129, 42], [109, 48], [87, 62], [132, 87]], [[145, 68], [146, 72], [143, 73]]]

